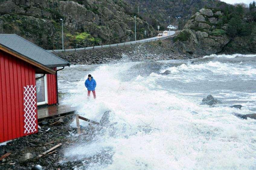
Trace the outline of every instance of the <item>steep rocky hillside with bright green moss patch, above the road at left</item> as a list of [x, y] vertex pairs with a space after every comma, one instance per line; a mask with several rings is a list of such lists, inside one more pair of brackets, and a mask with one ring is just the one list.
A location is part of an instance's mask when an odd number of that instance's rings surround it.
[[[44, 49], [65, 49], [120, 43], [134, 39], [131, 7], [122, 0], [0, 0], [0, 33], [15, 33]], [[155, 35], [136, 19], [137, 39]]]

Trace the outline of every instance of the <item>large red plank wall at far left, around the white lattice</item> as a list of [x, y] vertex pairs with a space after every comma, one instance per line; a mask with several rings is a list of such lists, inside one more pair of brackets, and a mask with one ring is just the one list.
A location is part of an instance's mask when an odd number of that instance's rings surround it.
[[[35, 69], [30, 64], [0, 51], [0, 142], [26, 135], [24, 87], [27, 85], [36, 85]], [[36, 125], [34, 133], [37, 131]]]

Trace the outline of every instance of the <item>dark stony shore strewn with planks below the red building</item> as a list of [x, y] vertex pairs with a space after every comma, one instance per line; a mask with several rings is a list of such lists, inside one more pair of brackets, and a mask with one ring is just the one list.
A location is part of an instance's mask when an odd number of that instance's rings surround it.
[[[5, 153], [11, 153], [0, 161], [0, 169], [32, 169], [36, 165], [41, 165], [43, 169], [72, 169], [78, 162], [60, 163], [64, 158], [63, 148], [69, 146], [76, 140], [72, 136], [76, 133], [76, 128], [70, 126], [74, 115], [67, 115], [64, 118], [45, 119], [40, 123], [37, 134], [20, 137], [0, 146], [0, 156]], [[61, 128], [60, 128], [61, 127]], [[62, 143], [53, 153], [42, 154], [53, 146]], [[53, 150], [53, 151], [54, 151]]]

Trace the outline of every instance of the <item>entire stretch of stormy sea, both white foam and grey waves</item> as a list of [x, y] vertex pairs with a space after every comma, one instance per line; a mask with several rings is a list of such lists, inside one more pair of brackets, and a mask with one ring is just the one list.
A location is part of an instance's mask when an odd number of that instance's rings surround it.
[[[87, 100], [88, 74], [96, 100]], [[256, 55], [76, 65], [58, 76], [63, 103], [94, 121], [110, 110], [117, 122], [114, 134], [65, 148], [65, 160], [83, 161], [77, 169], [256, 169], [256, 120], [234, 115], [256, 113]], [[209, 94], [222, 104], [200, 105]]]

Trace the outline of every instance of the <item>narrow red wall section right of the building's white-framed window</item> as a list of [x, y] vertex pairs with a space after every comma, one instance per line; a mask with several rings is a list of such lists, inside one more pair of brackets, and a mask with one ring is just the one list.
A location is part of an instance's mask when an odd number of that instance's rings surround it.
[[[54, 68], [53, 70], [56, 70]], [[48, 105], [57, 103], [57, 88], [56, 88], [56, 75], [47, 74], [47, 95], [48, 95]]]

